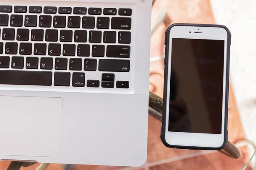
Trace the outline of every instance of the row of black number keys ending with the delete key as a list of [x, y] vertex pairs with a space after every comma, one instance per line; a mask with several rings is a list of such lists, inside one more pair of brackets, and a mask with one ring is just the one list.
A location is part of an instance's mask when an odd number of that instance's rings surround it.
[[[23, 15], [11, 15], [10, 26], [21, 27], [23, 26]], [[79, 16], [54, 16], [53, 27], [54, 28], [95, 28], [95, 17], [81, 17]], [[9, 15], [0, 14], [0, 26], [9, 25]], [[40, 15], [39, 19], [36, 15], [25, 15], [24, 26], [25, 27], [39, 27], [50, 28], [52, 27], [52, 16]], [[82, 26], [81, 26], [82, 25]], [[96, 21], [97, 29], [109, 29], [110, 18], [109, 17], [97, 17]], [[131, 18], [130, 17], [112, 17], [111, 19], [112, 29], [131, 29]]]

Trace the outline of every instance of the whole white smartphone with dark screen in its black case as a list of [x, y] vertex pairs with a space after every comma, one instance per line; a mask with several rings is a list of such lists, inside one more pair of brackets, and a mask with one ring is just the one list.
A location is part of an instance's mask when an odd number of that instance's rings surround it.
[[221, 150], [227, 143], [230, 44], [225, 26], [167, 28], [161, 128], [166, 147]]

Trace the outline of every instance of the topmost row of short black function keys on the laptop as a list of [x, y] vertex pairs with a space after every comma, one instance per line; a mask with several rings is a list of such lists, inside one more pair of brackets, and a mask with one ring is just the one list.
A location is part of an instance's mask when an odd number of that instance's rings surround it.
[[[12, 12], [12, 6], [0, 6], [0, 12]], [[15, 6], [14, 7], [15, 13], [26, 13], [27, 7], [26, 6]], [[29, 13], [32, 14], [41, 14], [42, 13], [42, 7], [41, 6], [29, 6]], [[55, 6], [45, 6], [44, 7], [44, 14], [56, 14], [57, 13], [57, 7]], [[59, 7], [58, 8], [59, 14], [71, 14], [72, 8], [71, 7]], [[73, 14], [80, 14], [85, 15], [87, 14], [87, 8], [85, 7], [75, 7], [73, 9]], [[101, 15], [102, 14], [102, 8], [88, 8], [88, 14], [90, 15]], [[116, 15], [117, 9], [116, 8], [104, 8], [103, 9], [104, 15]], [[131, 16], [132, 9], [131, 8], [119, 8], [118, 14], [123, 16]]]

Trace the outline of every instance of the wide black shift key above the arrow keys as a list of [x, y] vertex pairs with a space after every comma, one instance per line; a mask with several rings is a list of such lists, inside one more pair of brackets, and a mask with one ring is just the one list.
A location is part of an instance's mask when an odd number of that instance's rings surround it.
[[99, 59], [99, 71], [129, 72], [130, 71], [130, 60]]

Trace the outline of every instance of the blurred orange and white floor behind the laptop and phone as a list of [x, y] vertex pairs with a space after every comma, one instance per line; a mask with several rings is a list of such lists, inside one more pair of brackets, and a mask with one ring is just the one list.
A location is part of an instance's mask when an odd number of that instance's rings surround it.
[[[242, 170], [256, 143], [256, 0], [153, 0], [150, 91], [163, 96], [164, 32], [172, 23], [227, 26], [230, 48], [228, 139], [242, 152], [231, 159], [217, 151], [180, 150], [160, 140], [161, 122], [149, 114], [148, 159], [139, 168], [44, 164], [47, 170]], [[111, 153], [110, 153], [111, 154]], [[256, 170], [255, 159], [246, 170]], [[9, 161], [0, 162], [6, 170]], [[21, 170], [38, 169], [39, 163]]]

